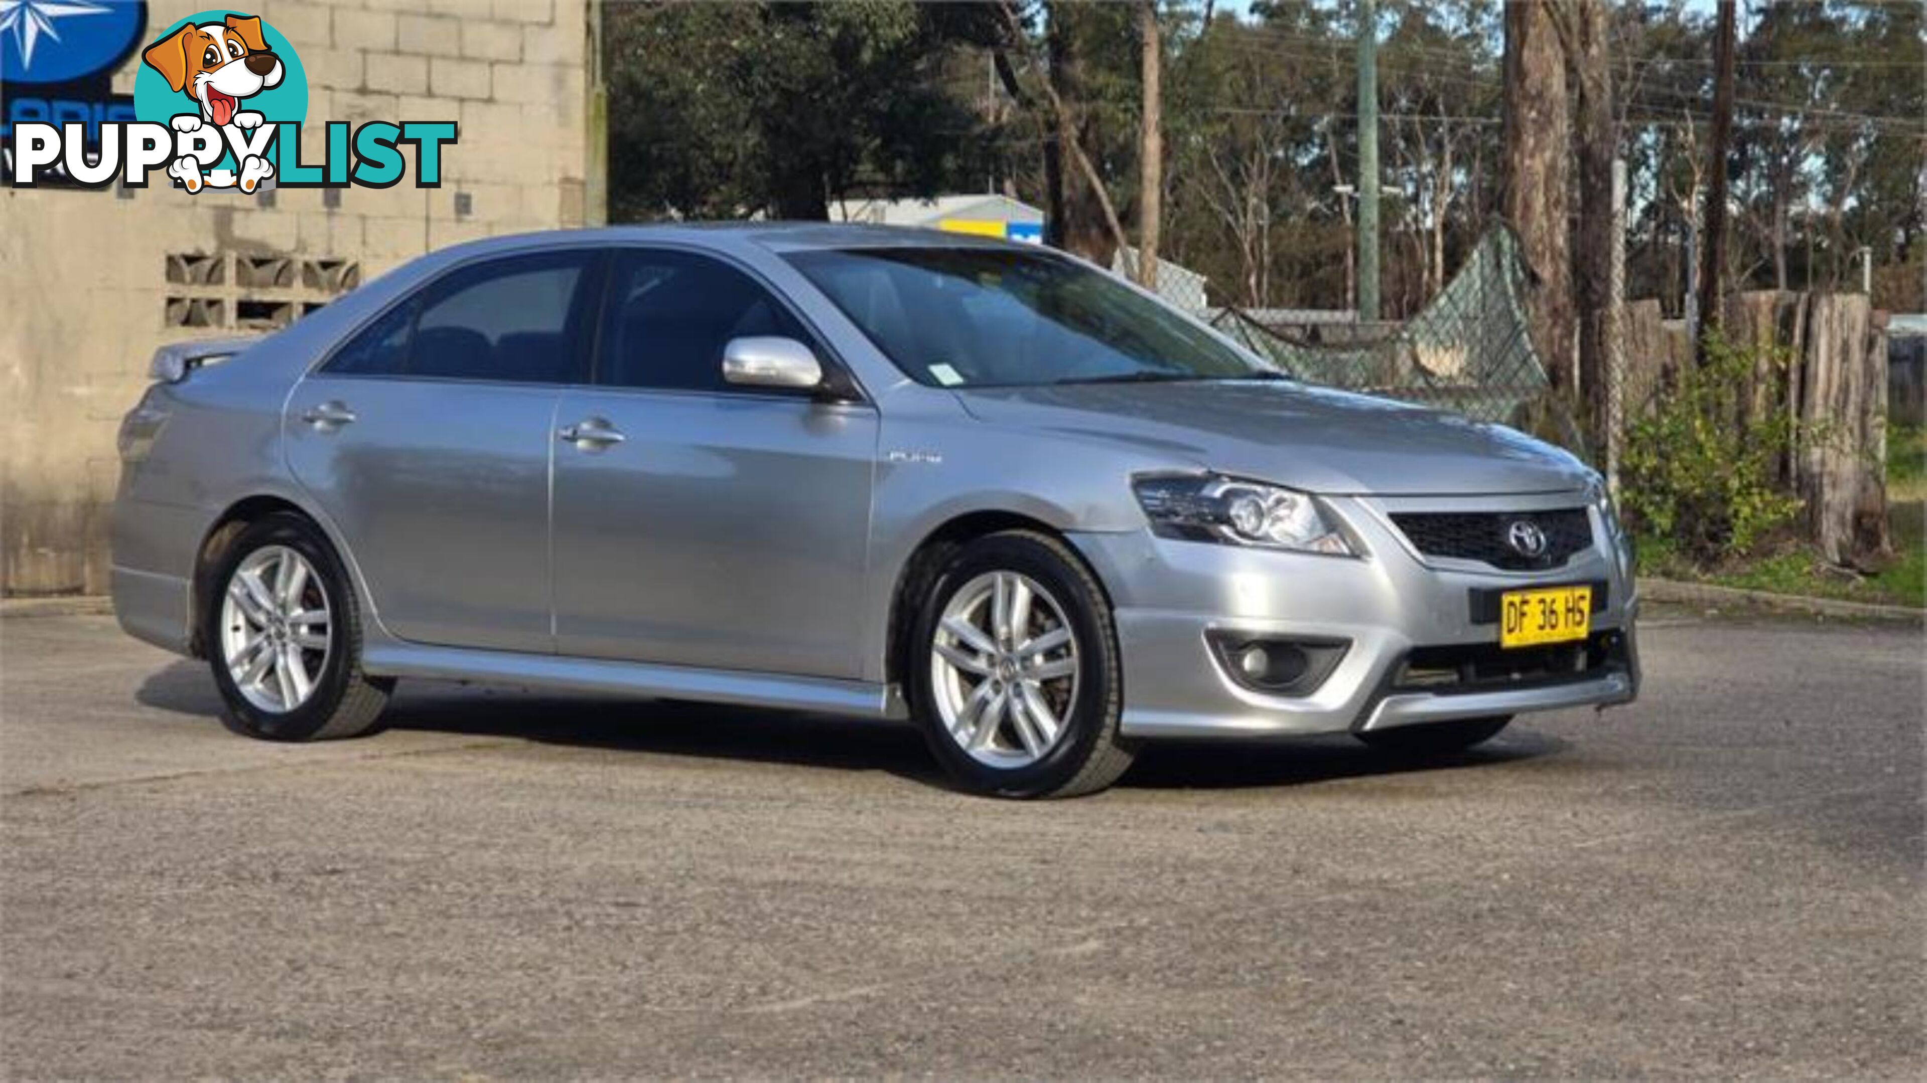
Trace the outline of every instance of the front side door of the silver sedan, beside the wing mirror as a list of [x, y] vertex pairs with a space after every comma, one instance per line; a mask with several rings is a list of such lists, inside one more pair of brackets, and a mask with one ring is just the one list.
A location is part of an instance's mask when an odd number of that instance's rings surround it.
[[611, 256], [595, 385], [557, 410], [561, 653], [858, 676], [877, 412], [725, 383], [742, 335], [836, 364], [732, 264]]

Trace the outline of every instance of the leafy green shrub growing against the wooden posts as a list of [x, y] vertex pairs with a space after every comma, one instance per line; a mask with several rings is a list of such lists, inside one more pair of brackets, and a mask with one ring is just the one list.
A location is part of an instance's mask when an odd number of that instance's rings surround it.
[[1800, 515], [1779, 484], [1794, 441], [1784, 405], [1746, 418], [1742, 399], [1759, 362], [1784, 374], [1786, 351], [1765, 355], [1713, 339], [1653, 410], [1626, 432], [1621, 503], [1634, 536], [1700, 563], [1742, 557]]

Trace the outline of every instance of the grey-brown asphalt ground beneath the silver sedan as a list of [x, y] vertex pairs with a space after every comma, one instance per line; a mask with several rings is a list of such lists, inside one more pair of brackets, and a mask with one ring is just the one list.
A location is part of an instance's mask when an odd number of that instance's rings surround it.
[[1644, 655], [1447, 765], [1019, 806], [888, 726], [434, 684], [256, 744], [110, 619], [6, 621], [0, 1068], [1919, 1077], [1921, 632]]

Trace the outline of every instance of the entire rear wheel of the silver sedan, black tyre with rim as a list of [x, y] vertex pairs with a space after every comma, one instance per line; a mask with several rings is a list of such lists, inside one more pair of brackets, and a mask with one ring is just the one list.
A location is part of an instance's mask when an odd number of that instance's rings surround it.
[[200, 642], [229, 728], [301, 742], [376, 726], [395, 682], [362, 673], [355, 588], [312, 522], [281, 513], [247, 524], [206, 582]]

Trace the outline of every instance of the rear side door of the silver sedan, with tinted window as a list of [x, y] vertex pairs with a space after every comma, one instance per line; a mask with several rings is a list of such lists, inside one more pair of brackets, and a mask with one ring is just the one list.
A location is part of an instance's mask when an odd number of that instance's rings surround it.
[[599, 256], [447, 272], [297, 387], [289, 462], [407, 640], [551, 651], [549, 459], [561, 385], [588, 372]]

